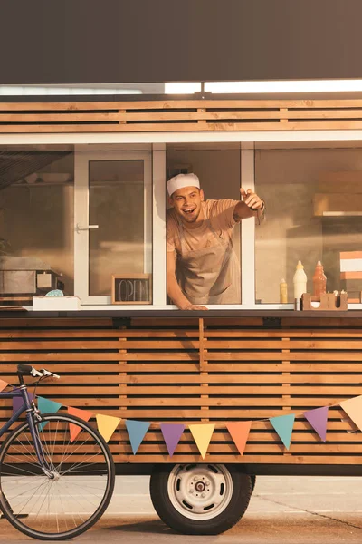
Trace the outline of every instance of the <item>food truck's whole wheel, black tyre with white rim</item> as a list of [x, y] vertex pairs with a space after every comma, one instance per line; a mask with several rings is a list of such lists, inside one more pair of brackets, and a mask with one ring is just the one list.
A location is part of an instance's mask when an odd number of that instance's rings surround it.
[[217, 535], [242, 517], [252, 480], [232, 465], [158, 465], [151, 474], [151, 500], [171, 529], [186, 535]]

